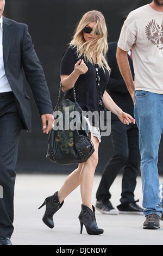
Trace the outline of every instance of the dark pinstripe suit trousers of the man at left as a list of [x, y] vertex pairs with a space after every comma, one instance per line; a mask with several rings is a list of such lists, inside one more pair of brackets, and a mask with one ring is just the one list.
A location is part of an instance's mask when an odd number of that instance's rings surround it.
[[14, 231], [15, 166], [22, 125], [14, 94], [0, 95], [0, 237], [11, 237]]

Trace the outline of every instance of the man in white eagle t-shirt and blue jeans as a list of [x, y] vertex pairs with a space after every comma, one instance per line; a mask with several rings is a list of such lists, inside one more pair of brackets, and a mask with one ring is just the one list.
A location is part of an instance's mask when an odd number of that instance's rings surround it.
[[[127, 53], [132, 49], [135, 81]], [[160, 228], [162, 203], [158, 150], [163, 130], [163, 0], [153, 0], [128, 15], [117, 48], [117, 62], [134, 102], [139, 127], [145, 229]]]

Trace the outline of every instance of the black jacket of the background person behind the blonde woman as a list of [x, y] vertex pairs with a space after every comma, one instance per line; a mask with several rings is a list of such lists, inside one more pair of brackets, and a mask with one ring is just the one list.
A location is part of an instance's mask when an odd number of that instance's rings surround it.
[[[112, 97], [112, 99], [116, 102], [116, 104], [122, 108], [124, 112], [129, 113], [134, 117], [134, 104], [131, 96], [128, 92], [126, 83], [123, 80], [121, 72], [118, 68], [117, 59], [116, 59], [116, 51], [117, 51], [117, 41], [109, 43], [109, 50], [107, 53], [108, 64], [111, 68], [111, 74], [109, 78], [108, 85], [106, 90]], [[131, 69], [131, 73], [134, 80], [134, 68], [133, 68], [133, 60], [128, 55], [129, 65]], [[113, 120], [119, 120], [117, 116], [111, 113], [111, 118]]]

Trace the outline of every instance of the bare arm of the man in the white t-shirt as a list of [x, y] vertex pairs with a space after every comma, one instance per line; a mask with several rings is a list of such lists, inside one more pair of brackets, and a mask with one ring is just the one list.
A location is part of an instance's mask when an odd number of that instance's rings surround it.
[[134, 87], [133, 77], [131, 75], [127, 53], [128, 52], [123, 51], [121, 48], [117, 47], [117, 54], [116, 54], [117, 63], [121, 71], [121, 75], [124, 81], [126, 82], [126, 86], [131, 95], [131, 98], [133, 99], [133, 102], [135, 102], [135, 87]]

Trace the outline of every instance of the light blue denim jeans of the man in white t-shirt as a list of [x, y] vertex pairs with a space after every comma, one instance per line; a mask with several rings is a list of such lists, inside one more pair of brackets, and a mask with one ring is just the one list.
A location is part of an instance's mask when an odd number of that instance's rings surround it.
[[139, 128], [143, 208], [145, 216], [162, 214], [158, 152], [163, 130], [163, 95], [135, 91], [134, 117]]

